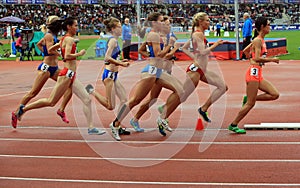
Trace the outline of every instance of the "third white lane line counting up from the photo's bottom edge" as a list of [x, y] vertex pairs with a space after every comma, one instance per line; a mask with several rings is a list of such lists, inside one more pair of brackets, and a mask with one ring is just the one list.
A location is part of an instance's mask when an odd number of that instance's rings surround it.
[[[43, 138], [0, 138], [0, 142], [66, 142], [66, 143], [115, 143], [114, 140], [60, 140], [60, 139], [43, 139]], [[182, 141], [121, 141], [124, 144], [212, 144], [212, 145], [299, 145], [300, 142], [182, 142]]]

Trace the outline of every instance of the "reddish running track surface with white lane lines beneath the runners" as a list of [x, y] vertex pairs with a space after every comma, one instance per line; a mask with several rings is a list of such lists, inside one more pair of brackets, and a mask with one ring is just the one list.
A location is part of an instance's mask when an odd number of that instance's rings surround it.
[[[145, 133], [123, 136], [115, 142], [108, 124], [113, 111], [93, 101], [95, 126], [105, 128], [102, 136], [89, 136], [82, 104], [74, 96], [67, 107], [70, 124], [56, 116], [55, 108], [26, 113], [19, 127], [10, 127], [10, 113], [31, 88], [39, 62], [0, 63], [0, 187], [300, 187], [300, 137], [296, 130], [249, 130], [235, 135], [226, 130], [241, 107], [245, 93], [247, 62], [211, 61], [210, 69], [224, 76], [229, 87], [210, 110], [213, 122], [195, 131], [197, 107], [210, 88], [200, 83], [197, 91], [171, 116], [176, 130], [161, 137], [155, 129], [158, 104], [145, 114]], [[184, 80], [189, 62], [177, 62], [174, 75]], [[99, 84], [102, 64], [80, 62], [78, 79]], [[131, 95], [143, 65], [133, 63], [120, 71], [120, 80]], [[241, 122], [244, 124], [300, 122], [300, 61], [268, 64], [264, 77], [279, 90], [280, 98], [258, 102]], [[47, 97], [54, 86], [48, 81], [36, 97]], [[213, 89], [213, 88], [212, 88]], [[36, 99], [33, 99], [36, 100]], [[133, 110], [136, 112], [137, 107]], [[115, 112], [115, 111], [114, 111]], [[124, 126], [130, 127], [128, 118]]]

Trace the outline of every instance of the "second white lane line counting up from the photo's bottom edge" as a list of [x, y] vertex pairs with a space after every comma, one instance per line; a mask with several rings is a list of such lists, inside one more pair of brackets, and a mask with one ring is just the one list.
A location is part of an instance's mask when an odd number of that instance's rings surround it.
[[299, 163], [300, 159], [179, 159], [179, 158], [117, 158], [117, 157], [76, 157], [47, 155], [0, 155], [0, 158], [64, 159], [64, 160], [108, 160], [108, 161], [181, 161], [181, 162], [254, 162], [254, 163]]

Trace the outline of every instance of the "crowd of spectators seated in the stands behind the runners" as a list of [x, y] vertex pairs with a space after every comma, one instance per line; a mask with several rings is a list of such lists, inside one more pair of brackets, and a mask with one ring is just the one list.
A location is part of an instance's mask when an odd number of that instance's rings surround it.
[[[239, 18], [242, 22], [243, 13], [248, 12], [251, 19], [258, 16], [265, 16], [271, 23], [294, 24], [299, 23], [298, 4], [240, 4]], [[141, 5], [141, 18], [146, 18], [151, 12], [163, 12], [172, 18], [173, 26], [180, 26], [186, 31], [191, 26], [191, 18], [197, 12], [206, 12], [214, 24], [230, 23], [235, 21], [233, 5], [194, 5], [194, 4], [173, 4], [173, 5]], [[130, 19], [134, 27], [137, 23], [136, 5], [1, 5], [0, 18], [5, 16], [16, 16], [24, 19], [25, 27], [39, 30], [49, 15], [59, 17], [76, 16], [79, 29], [94, 31], [104, 28], [103, 20], [108, 17], [116, 17], [124, 21], [125, 17]], [[212, 25], [214, 25], [212, 24]], [[3, 34], [2, 25], [1, 34]]]

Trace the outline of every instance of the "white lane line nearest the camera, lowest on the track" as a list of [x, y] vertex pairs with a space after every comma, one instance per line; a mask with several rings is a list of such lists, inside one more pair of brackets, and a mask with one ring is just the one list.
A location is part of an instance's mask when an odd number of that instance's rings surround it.
[[158, 182], [158, 181], [113, 181], [113, 180], [80, 180], [80, 179], [52, 179], [52, 178], [22, 178], [0, 176], [3, 180], [18, 181], [47, 181], [66, 183], [111, 183], [111, 184], [141, 184], [141, 185], [206, 185], [206, 186], [300, 186], [299, 183], [209, 183], [209, 182]]

